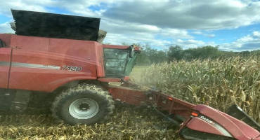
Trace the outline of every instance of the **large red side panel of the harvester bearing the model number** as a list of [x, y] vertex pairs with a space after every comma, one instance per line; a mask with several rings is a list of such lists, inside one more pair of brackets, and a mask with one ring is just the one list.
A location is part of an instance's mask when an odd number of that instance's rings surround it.
[[9, 88], [51, 92], [72, 80], [96, 79], [96, 64], [69, 56], [13, 50]]

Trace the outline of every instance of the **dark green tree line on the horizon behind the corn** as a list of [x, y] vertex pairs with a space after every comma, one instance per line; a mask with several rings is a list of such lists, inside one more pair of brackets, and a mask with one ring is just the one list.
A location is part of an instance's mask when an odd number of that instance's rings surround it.
[[192, 59], [221, 59], [235, 56], [250, 57], [252, 55], [260, 56], [260, 50], [232, 52], [219, 50], [218, 47], [210, 45], [189, 49], [183, 49], [181, 46], [174, 45], [170, 46], [168, 50], [157, 50], [148, 45], [141, 46], [141, 48], [142, 52], [138, 55], [136, 60], [136, 64], [138, 65], [171, 62], [175, 60], [179, 61], [182, 59], [190, 61]]

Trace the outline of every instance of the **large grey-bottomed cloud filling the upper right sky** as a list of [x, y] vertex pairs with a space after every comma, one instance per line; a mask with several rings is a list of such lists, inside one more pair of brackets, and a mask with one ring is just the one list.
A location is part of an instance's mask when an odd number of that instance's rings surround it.
[[[138, 3], [138, 4], [136, 4]], [[124, 1], [108, 18], [177, 29], [226, 29], [260, 21], [260, 1]]]

